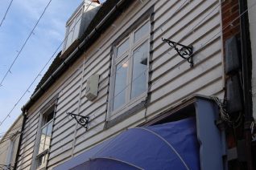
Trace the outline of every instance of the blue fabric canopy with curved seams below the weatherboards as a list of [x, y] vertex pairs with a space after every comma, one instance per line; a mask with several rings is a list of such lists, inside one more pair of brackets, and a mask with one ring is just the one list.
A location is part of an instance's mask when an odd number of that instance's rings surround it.
[[54, 169], [200, 169], [196, 119], [131, 128]]

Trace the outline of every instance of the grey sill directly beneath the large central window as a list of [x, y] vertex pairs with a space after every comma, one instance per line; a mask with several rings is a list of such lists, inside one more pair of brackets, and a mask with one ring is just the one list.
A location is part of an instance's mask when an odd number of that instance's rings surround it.
[[136, 114], [138, 111], [141, 111], [143, 108], [145, 108], [147, 104], [147, 96], [143, 96], [141, 98], [142, 99], [139, 99], [135, 103], [130, 104], [128, 108], [123, 109], [123, 111], [119, 111], [118, 113], [110, 116], [109, 120], [105, 122], [104, 128], [108, 129], [110, 127], [114, 127], [114, 125], [116, 125], [117, 123], [122, 122], [123, 120], [129, 118], [130, 116]]

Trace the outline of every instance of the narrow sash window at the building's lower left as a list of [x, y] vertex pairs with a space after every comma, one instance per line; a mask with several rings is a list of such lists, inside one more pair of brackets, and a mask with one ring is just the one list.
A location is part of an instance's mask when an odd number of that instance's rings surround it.
[[45, 168], [47, 163], [48, 149], [52, 136], [52, 123], [54, 116], [54, 108], [42, 115], [38, 154], [36, 156], [36, 168]]

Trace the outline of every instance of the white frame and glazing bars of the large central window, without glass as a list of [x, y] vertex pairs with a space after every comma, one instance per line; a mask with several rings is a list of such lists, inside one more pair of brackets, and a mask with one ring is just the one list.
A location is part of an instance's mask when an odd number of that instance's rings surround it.
[[[139, 30], [142, 26], [144, 26], [147, 22], [149, 22], [149, 31], [142, 36], [137, 42], [134, 42], [134, 33]], [[151, 21], [149, 18], [147, 20], [140, 22], [140, 24], [136, 27], [136, 29], [130, 31], [130, 33], [125, 37], [122, 38], [121, 41], [118, 42], [116, 46], [114, 46], [114, 54], [112, 57], [112, 67], [111, 67], [111, 76], [110, 76], [110, 87], [109, 87], [109, 105], [108, 105], [108, 116], [107, 119], [111, 120], [118, 115], [122, 115], [122, 113], [128, 111], [131, 107], [136, 106], [138, 103], [141, 103], [143, 100], [147, 97], [147, 89], [148, 89], [148, 70], [149, 70], [149, 57], [150, 57], [150, 38], [151, 38]], [[129, 50], [125, 51], [122, 55], [117, 56], [118, 47], [122, 45], [123, 42], [125, 42], [129, 38], [130, 41], [130, 47]], [[147, 43], [147, 71], [146, 72], [146, 91], [144, 91], [141, 95], [138, 95], [137, 97], [131, 99], [131, 86], [132, 86], [132, 68], [133, 68], [133, 51], [135, 51], [138, 47], [140, 47], [143, 43]], [[118, 57], [118, 58], [117, 58]], [[121, 107], [118, 107], [116, 110], [113, 110], [113, 103], [114, 103], [114, 86], [115, 86], [115, 79], [116, 79], [116, 67], [119, 63], [121, 63], [123, 60], [127, 61], [129, 60], [129, 68], [128, 68], [128, 74], [127, 74], [127, 80], [129, 82], [126, 83], [126, 103], [123, 104]]]

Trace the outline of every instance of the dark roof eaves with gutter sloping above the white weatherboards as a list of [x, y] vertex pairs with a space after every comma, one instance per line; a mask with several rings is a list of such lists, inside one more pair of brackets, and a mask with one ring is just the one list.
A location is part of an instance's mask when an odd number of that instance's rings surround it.
[[60, 78], [64, 71], [67, 71], [68, 67], [70, 67], [72, 63], [74, 63], [76, 59], [78, 59], [83, 52], [100, 37], [100, 35], [114, 22], [114, 20], [118, 18], [119, 14], [130, 6], [132, 2], [134, 2], [134, 0], [107, 0], [89, 24], [85, 34], [81, 36], [75, 50], [72, 51], [66, 59], [64, 59], [60, 66], [57, 67], [56, 71], [49, 76], [43, 85], [40, 86], [33, 95], [31, 95], [31, 98], [22, 107], [22, 111], [27, 111], [47, 91], [47, 89]]

